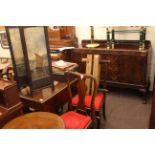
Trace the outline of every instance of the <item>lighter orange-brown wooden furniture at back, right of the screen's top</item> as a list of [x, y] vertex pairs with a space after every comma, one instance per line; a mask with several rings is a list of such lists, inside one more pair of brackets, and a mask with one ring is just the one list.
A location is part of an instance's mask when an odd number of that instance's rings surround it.
[[53, 47], [77, 46], [75, 26], [58, 26], [57, 29], [48, 29], [49, 45]]

